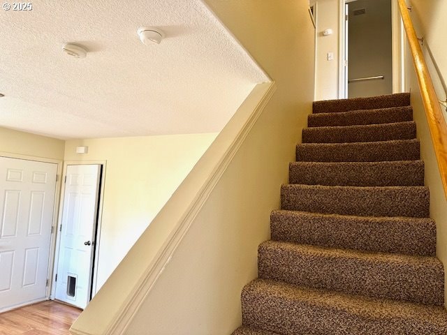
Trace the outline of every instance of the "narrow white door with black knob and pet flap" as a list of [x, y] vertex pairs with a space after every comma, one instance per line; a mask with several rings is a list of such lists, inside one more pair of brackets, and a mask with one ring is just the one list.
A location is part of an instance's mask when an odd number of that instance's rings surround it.
[[85, 308], [90, 300], [101, 165], [66, 170], [56, 299]]

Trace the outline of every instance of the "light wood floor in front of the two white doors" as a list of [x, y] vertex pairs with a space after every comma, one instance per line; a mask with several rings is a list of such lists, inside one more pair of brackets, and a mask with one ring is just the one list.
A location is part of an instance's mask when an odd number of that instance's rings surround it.
[[81, 310], [56, 301], [0, 314], [0, 335], [68, 335]]

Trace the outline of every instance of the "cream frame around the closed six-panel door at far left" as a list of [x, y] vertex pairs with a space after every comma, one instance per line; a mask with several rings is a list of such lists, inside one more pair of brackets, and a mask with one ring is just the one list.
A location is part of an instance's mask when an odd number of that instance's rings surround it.
[[[57, 174], [56, 174], [56, 189], [54, 190], [54, 207], [53, 207], [53, 216], [52, 216], [52, 233], [51, 233], [51, 242], [50, 242], [50, 258], [48, 258], [48, 285], [47, 285], [47, 291], [45, 292], [45, 297], [47, 299], [51, 299], [52, 294], [52, 280], [50, 278], [53, 278], [54, 276], [54, 255], [56, 251], [56, 245], [57, 245], [57, 223], [59, 218], [59, 204], [61, 200], [61, 181], [62, 181], [62, 171], [63, 171], [63, 161], [53, 158], [44, 158], [44, 157], [38, 157], [38, 156], [27, 156], [22, 154], [14, 154], [10, 152], [0, 151], [1, 157], [6, 158], [15, 158], [15, 159], [22, 159], [24, 161], [36, 161], [41, 163], [52, 163], [57, 164]], [[34, 301], [38, 302], [38, 301]], [[32, 303], [34, 303], [32, 302]], [[30, 302], [27, 302], [23, 304], [22, 306], [27, 306], [31, 304]], [[20, 306], [15, 306], [15, 308]]]

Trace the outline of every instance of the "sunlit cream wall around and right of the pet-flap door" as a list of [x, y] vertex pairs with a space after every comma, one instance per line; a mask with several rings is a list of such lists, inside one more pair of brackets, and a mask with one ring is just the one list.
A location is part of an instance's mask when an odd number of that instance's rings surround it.
[[[217, 134], [68, 140], [65, 161], [106, 161], [97, 288], [110, 276]], [[76, 154], [87, 145], [88, 154]]]

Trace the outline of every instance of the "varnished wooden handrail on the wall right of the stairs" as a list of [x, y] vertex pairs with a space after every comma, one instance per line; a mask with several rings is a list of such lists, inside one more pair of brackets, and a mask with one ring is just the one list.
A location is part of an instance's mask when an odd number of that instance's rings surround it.
[[408, 38], [411, 54], [413, 55], [413, 64], [416, 68], [420, 94], [422, 96], [423, 104], [425, 107], [425, 114], [427, 116], [430, 134], [432, 135], [434, 153], [436, 154], [439, 172], [441, 173], [441, 180], [444, 186], [444, 194], [447, 198], [446, 120], [444, 119], [441, 107], [439, 106], [439, 100], [436, 91], [434, 91], [432, 78], [430, 77], [430, 73], [428, 72], [427, 64], [425, 64], [423, 52], [420, 48], [418, 37], [416, 36], [416, 31], [414, 31], [413, 23], [411, 22], [411, 17], [408, 13], [406, 3], [404, 0], [398, 1], [400, 13], [402, 15], [402, 21], [404, 22], [406, 37]]

